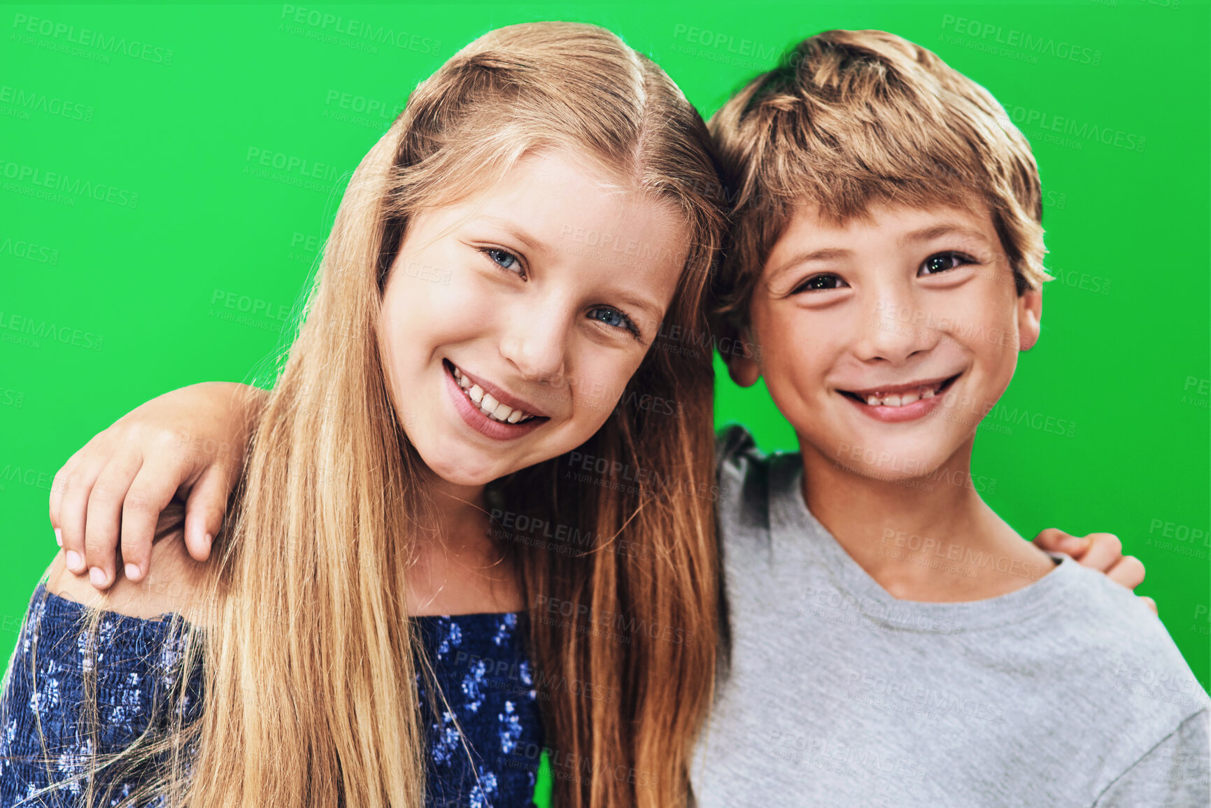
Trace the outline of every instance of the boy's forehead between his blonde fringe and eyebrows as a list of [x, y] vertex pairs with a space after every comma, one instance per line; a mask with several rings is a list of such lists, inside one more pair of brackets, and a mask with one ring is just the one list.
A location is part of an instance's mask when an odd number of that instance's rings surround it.
[[879, 202], [859, 214], [838, 219], [815, 202], [805, 201], [792, 208], [786, 227], [769, 251], [764, 270], [765, 274], [777, 271], [794, 259], [825, 259], [869, 248], [911, 247], [943, 236], [983, 242], [989, 250], [1001, 250], [992, 213], [978, 202], [929, 207]]

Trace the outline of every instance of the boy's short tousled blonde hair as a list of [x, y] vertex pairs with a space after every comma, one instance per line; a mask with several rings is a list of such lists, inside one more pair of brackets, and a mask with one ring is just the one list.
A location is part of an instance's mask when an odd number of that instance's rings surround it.
[[747, 323], [769, 251], [803, 204], [842, 224], [874, 204], [982, 202], [1018, 293], [1050, 280], [1029, 143], [987, 90], [895, 34], [830, 30], [803, 40], [710, 127], [736, 195], [716, 283], [727, 329]]

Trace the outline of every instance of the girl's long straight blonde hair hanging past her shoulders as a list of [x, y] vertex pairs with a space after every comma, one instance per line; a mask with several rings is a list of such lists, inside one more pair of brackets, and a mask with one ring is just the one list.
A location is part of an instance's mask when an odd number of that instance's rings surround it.
[[[385, 382], [379, 306], [413, 216], [543, 149], [676, 206], [689, 253], [662, 337], [606, 425], [489, 487], [515, 515], [575, 528], [576, 543], [497, 534], [523, 571], [556, 804], [684, 804], [718, 636], [701, 314], [724, 229], [718, 165], [672, 80], [576, 23], [511, 25], [464, 47], [354, 172], [216, 541], [206, 628], [183, 626], [178, 687], [205, 637], [205, 711], [185, 722], [178, 710], [137, 745], [166, 761], [143, 791], [197, 808], [424, 803], [425, 671], [404, 588], [436, 522], [431, 472]], [[108, 764], [132, 762], [127, 751]]]

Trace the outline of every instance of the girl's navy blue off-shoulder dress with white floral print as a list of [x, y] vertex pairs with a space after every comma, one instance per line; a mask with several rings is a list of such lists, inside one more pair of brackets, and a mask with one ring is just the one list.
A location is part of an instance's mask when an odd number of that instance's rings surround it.
[[[168, 620], [107, 612], [99, 637], [91, 643], [78, 628], [84, 612], [80, 603], [50, 594], [45, 584], [39, 584], [30, 600], [0, 694], [0, 808], [82, 806], [79, 780], [41, 790], [87, 770], [97, 752], [128, 746], [148, 729], [150, 716], [162, 717], [159, 728], [167, 726], [165, 705], [157, 700], [179, 684], [180, 634], [171, 631]], [[417, 676], [429, 741], [426, 804], [533, 806], [543, 729], [526, 658], [527, 615], [507, 612], [412, 620], [432, 670], [432, 680]], [[97, 749], [87, 739], [81, 741], [78, 715], [82, 675], [93, 666], [102, 722]], [[191, 721], [203, 704], [200, 670], [185, 682], [184, 693], [178, 709]], [[150, 769], [142, 774], [153, 775]], [[98, 780], [103, 777], [97, 774]], [[114, 793], [128, 796], [139, 780], [140, 773], [125, 773]]]

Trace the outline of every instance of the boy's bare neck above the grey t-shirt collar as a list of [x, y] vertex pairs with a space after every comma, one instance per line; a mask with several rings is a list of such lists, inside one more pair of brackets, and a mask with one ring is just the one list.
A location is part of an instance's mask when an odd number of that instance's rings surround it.
[[978, 601], [1022, 589], [1054, 568], [980, 498], [971, 443], [924, 477], [874, 480], [803, 443], [811, 514], [876, 583], [906, 601]]

